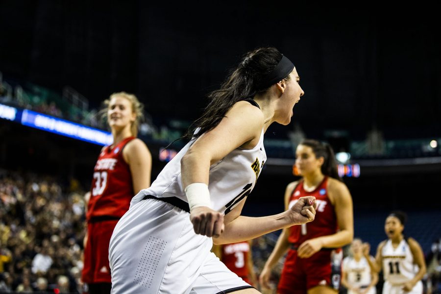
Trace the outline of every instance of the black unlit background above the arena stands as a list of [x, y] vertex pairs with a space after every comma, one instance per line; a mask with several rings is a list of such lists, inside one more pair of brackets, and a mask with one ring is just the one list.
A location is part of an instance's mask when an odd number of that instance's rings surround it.
[[293, 124], [308, 136], [346, 129], [363, 139], [373, 125], [391, 138], [440, 135], [434, 7], [288, 2], [2, 0], [0, 71], [70, 85], [92, 107], [124, 90], [154, 119], [194, 120], [243, 53], [272, 45], [301, 76]]

